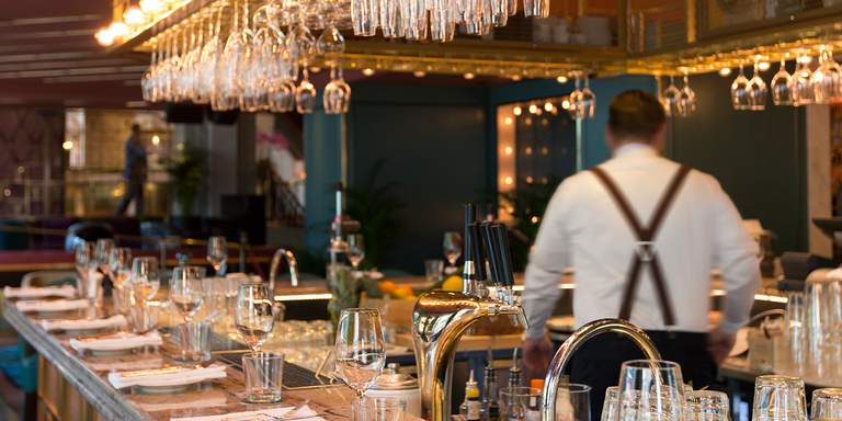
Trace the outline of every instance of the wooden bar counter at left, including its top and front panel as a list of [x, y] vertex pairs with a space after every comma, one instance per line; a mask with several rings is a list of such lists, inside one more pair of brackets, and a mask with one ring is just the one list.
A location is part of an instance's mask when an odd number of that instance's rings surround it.
[[[68, 312], [68, 315], [72, 315]], [[174, 363], [174, 344], [164, 335], [164, 345], [149, 353], [120, 356], [80, 355], [68, 345], [66, 334], [47, 333], [37, 322], [38, 316], [24, 315], [14, 303], [5, 300], [3, 316], [39, 354], [39, 420], [156, 420], [200, 417], [294, 407], [309, 401], [319, 417], [329, 421], [350, 419], [353, 394], [343, 386], [296, 387], [284, 379], [283, 401], [273, 406], [241, 402], [244, 390], [242, 372], [229, 365], [227, 377], [212, 380], [183, 392], [141, 395], [129, 389], [117, 390], [109, 384], [109, 371], [155, 368]], [[77, 312], [76, 317], [81, 317]], [[68, 316], [67, 318], [72, 318]], [[244, 352], [244, 350], [234, 350]], [[214, 360], [218, 359], [215, 353]], [[225, 363], [225, 361], [223, 361]], [[147, 365], [148, 364], [148, 365]], [[295, 382], [295, 379], [292, 379]], [[46, 412], [46, 413], [45, 413]]]

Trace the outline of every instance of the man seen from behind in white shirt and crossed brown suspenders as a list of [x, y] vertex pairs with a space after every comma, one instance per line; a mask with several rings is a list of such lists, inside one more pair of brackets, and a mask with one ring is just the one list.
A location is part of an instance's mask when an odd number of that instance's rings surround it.
[[[661, 157], [664, 123], [655, 96], [621, 93], [608, 110], [612, 159], [569, 177], [553, 195], [523, 293], [530, 320], [524, 361], [534, 376], [544, 376], [551, 357], [544, 325], [568, 268], [574, 270], [577, 328], [604, 318], [629, 320], [647, 331], [664, 360], [681, 364], [684, 382], [697, 389], [714, 382], [748, 321], [760, 282], [758, 246], [716, 179]], [[715, 268], [727, 295], [712, 327]], [[621, 364], [640, 357], [616, 334], [595, 337], [576, 353], [570, 382], [593, 387], [595, 419]]]

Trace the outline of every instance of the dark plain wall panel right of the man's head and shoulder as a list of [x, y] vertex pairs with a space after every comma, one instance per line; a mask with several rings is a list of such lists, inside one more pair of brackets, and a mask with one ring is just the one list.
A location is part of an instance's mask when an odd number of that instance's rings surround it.
[[[769, 78], [776, 67], [766, 71]], [[744, 218], [778, 236], [776, 249], [807, 248], [803, 109], [767, 105], [733, 111], [730, 83], [716, 73], [693, 77], [696, 113], [671, 121], [668, 155], [716, 177]], [[678, 82], [679, 84], [681, 82]]]

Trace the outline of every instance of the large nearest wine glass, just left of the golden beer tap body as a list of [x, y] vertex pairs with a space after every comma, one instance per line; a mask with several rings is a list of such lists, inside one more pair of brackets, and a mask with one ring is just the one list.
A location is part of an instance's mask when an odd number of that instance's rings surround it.
[[346, 308], [337, 326], [337, 375], [356, 392], [362, 407], [365, 391], [386, 363], [380, 312], [376, 308]]

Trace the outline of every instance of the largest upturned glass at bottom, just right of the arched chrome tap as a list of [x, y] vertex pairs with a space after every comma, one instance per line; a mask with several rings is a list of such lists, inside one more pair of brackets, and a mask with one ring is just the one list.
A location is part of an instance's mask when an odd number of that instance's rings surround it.
[[681, 367], [673, 362], [635, 360], [623, 363], [617, 394], [621, 420], [682, 420], [684, 383]]

